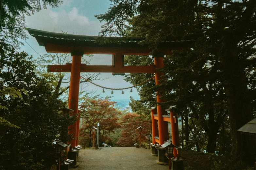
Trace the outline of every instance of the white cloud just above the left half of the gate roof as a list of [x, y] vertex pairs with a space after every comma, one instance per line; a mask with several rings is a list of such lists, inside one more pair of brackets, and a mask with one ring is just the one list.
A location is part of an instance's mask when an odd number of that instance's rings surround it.
[[48, 8], [26, 16], [27, 27], [57, 33], [64, 31], [69, 34], [98, 35], [102, 24], [79, 14], [76, 7], [73, 7], [70, 12], [65, 10], [54, 12]]

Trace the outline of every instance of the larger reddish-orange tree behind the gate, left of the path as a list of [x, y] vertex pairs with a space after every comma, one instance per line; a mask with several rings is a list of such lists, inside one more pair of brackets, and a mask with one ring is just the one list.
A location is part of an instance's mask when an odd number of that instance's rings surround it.
[[[93, 135], [90, 129], [99, 123], [99, 146], [102, 142], [109, 144], [111, 138], [109, 135], [115, 133], [115, 129], [120, 128], [118, 123], [120, 111], [117, 111], [114, 107], [116, 102], [111, 101], [110, 97], [98, 98], [95, 96], [90, 98], [89, 95], [83, 97], [83, 102], [80, 105], [82, 127], [79, 132], [79, 141], [83, 146], [91, 147]], [[97, 133], [95, 134], [95, 141]], [[95, 142], [96, 144], [96, 142]]]

